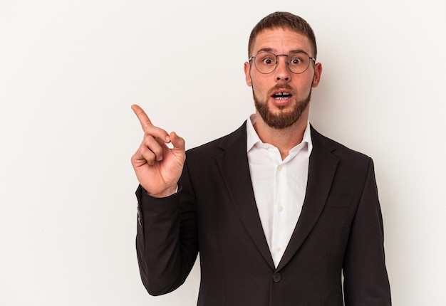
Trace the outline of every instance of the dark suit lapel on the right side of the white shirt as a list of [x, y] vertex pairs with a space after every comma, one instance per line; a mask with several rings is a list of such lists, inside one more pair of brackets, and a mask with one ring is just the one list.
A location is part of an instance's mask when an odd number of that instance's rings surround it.
[[318, 221], [338, 165], [338, 159], [331, 154], [331, 149], [326, 147], [327, 142], [313, 127], [311, 127], [311, 142], [313, 143], [313, 150], [308, 165], [308, 182], [304, 205], [277, 270], [283, 268], [291, 260]]

